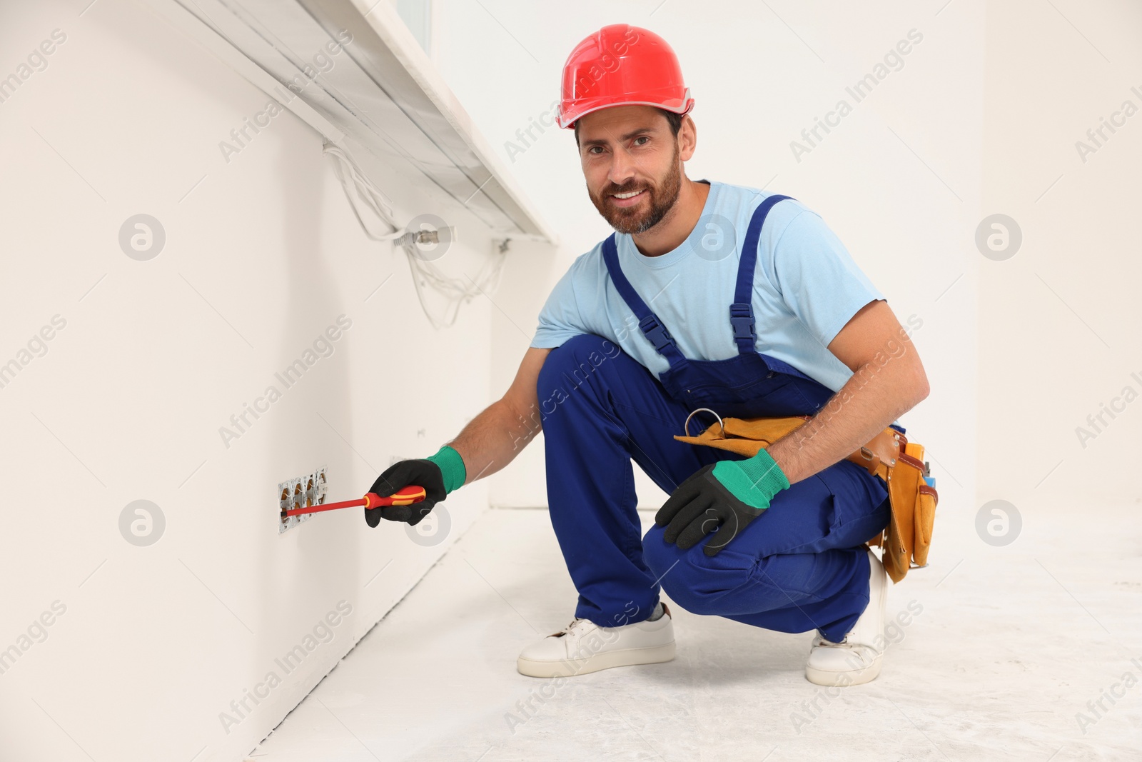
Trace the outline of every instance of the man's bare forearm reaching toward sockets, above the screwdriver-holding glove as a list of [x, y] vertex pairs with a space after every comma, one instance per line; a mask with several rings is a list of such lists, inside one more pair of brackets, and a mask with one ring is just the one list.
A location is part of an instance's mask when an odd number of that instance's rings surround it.
[[449, 442], [464, 459], [465, 484], [512, 463], [541, 428], [536, 385], [548, 353], [550, 350], [529, 347], [507, 393], [484, 408]]

